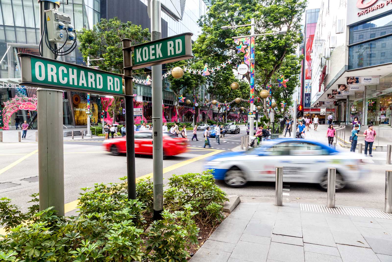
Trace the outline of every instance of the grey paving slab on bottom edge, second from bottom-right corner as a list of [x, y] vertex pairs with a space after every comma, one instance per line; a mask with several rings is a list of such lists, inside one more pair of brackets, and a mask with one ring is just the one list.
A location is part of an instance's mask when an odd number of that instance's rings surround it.
[[370, 248], [355, 247], [338, 244], [338, 250], [343, 262], [380, 262], [377, 255]]

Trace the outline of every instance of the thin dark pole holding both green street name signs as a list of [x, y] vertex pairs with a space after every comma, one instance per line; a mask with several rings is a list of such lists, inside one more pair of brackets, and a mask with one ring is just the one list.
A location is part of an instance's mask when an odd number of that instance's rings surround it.
[[[123, 42], [123, 60], [124, 68], [132, 66], [132, 56], [129, 47], [131, 39], [125, 38]], [[128, 49], [125, 49], [128, 48]], [[135, 166], [135, 133], [133, 117], [133, 82], [132, 70], [124, 69], [124, 87], [125, 87], [125, 139], [127, 146], [127, 189], [128, 199], [136, 199], [136, 166]], [[103, 126], [102, 126], [103, 128]]]

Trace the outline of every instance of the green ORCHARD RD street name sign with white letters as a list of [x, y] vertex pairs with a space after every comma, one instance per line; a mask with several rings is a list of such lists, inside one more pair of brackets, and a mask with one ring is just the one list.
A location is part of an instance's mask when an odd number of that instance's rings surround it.
[[18, 56], [22, 68], [20, 85], [124, 95], [120, 74], [25, 53]]

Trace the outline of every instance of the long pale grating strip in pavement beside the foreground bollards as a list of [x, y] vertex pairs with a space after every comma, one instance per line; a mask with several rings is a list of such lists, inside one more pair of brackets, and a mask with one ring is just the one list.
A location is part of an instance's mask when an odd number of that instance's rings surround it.
[[386, 213], [381, 210], [370, 210], [370, 209], [350, 208], [350, 207], [328, 208], [323, 205], [301, 204], [301, 211], [392, 219], [392, 214]]

